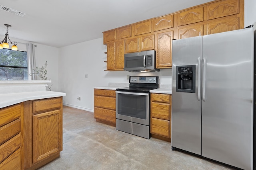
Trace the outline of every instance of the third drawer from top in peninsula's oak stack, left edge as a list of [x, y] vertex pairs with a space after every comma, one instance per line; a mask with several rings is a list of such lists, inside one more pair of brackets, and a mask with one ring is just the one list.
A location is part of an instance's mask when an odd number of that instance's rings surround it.
[[20, 133], [0, 146], [0, 162], [5, 160], [10, 154], [20, 147]]

